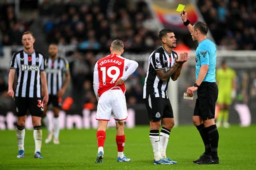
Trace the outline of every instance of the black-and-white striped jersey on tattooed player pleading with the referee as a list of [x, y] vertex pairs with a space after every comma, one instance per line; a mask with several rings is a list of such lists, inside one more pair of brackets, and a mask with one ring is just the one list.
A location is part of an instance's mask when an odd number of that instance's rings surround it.
[[170, 54], [163, 46], [158, 47], [153, 51], [148, 58], [148, 70], [143, 87], [143, 98], [168, 98], [167, 87], [170, 78], [162, 81], [156, 74], [156, 70], [170, 69], [175, 63], [175, 58], [178, 59], [176, 52]]

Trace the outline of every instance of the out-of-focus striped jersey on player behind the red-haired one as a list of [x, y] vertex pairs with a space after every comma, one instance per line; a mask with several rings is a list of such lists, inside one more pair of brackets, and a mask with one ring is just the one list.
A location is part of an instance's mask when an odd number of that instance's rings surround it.
[[46, 59], [46, 79], [49, 95], [57, 95], [63, 86], [63, 72], [69, 70], [68, 61], [62, 57]]

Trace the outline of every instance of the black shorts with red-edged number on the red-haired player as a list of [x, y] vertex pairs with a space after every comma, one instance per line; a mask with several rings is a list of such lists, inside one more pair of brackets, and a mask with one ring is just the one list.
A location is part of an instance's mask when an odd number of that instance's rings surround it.
[[26, 115], [27, 111], [30, 111], [32, 116], [42, 117], [44, 113], [44, 106], [42, 104], [42, 98], [22, 98], [15, 97], [15, 110], [18, 117]]

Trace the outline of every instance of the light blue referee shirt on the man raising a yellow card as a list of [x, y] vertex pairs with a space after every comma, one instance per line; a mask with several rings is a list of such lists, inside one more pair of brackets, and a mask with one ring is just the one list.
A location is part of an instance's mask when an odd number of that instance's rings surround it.
[[202, 65], [209, 65], [206, 76], [203, 82], [216, 82], [216, 45], [209, 39], [204, 39], [196, 48], [196, 80]]

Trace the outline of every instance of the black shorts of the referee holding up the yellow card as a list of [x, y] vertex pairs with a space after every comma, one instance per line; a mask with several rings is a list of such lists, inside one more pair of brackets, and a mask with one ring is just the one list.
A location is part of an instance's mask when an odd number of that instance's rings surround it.
[[215, 82], [202, 82], [197, 90], [194, 116], [203, 120], [214, 119], [215, 105], [218, 98], [218, 86]]

